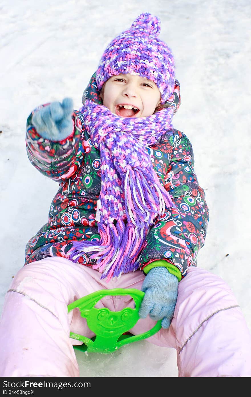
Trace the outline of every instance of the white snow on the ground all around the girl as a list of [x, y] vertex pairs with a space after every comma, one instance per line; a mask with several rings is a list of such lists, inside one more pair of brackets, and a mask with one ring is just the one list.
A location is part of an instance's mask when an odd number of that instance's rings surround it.
[[[198, 266], [230, 285], [251, 329], [249, 0], [0, 1], [0, 310], [57, 190], [29, 163], [26, 118], [65, 96], [79, 108], [105, 46], [142, 12], [161, 18], [174, 53], [182, 97], [174, 127], [192, 142], [210, 209]], [[178, 376], [176, 352], [147, 341], [76, 354], [80, 376]]]

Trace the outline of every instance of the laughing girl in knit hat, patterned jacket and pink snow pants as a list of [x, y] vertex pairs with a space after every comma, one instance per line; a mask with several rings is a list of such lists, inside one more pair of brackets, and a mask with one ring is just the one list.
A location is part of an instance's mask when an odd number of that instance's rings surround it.
[[141, 14], [107, 46], [79, 111], [65, 98], [28, 118], [29, 159], [59, 191], [6, 294], [1, 376], [79, 376], [69, 333], [93, 333], [67, 305], [115, 287], [145, 292], [131, 332], [162, 320], [148, 340], [176, 349], [179, 376], [251, 375], [232, 291], [196, 267], [208, 209], [192, 146], [172, 127], [180, 87], [159, 32], [159, 18]]

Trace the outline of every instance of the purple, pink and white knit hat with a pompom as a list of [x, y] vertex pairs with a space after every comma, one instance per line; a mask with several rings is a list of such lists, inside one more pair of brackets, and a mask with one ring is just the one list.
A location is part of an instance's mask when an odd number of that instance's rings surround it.
[[142, 13], [130, 29], [107, 46], [96, 71], [99, 91], [113, 75], [133, 74], [153, 81], [165, 103], [174, 89], [174, 59], [171, 49], [158, 38], [160, 20]]

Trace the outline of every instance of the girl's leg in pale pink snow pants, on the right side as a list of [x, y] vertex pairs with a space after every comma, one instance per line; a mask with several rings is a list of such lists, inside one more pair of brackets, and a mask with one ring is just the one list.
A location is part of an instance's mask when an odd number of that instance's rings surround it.
[[[137, 324], [133, 331], [142, 330]], [[147, 340], [176, 349], [179, 376], [251, 376], [251, 334], [243, 314], [230, 287], [206, 270], [188, 270], [169, 330]]]

